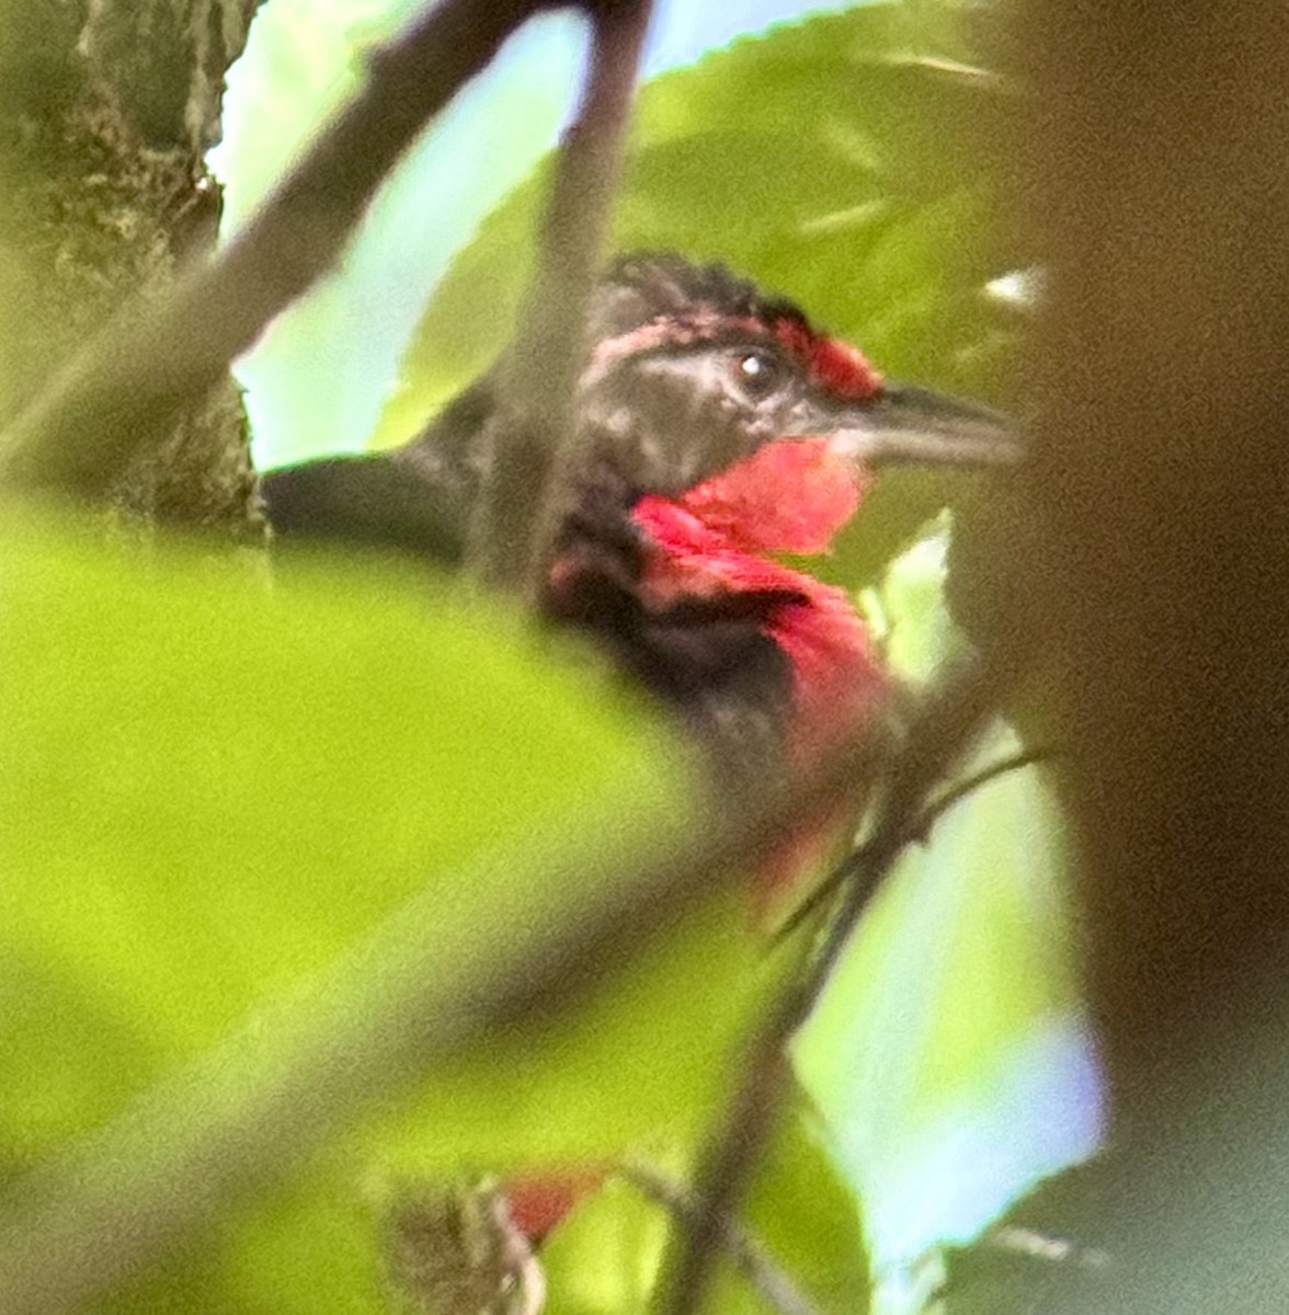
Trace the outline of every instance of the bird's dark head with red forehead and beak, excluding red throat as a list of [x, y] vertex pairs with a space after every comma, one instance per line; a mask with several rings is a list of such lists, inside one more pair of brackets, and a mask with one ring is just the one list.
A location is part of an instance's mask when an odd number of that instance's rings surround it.
[[890, 383], [790, 301], [672, 254], [617, 259], [589, 322], [577, 413], [626, 483], [676, 494], [783, 438], [856, 468], [1014, 460], [994, 413]]

